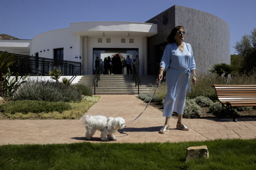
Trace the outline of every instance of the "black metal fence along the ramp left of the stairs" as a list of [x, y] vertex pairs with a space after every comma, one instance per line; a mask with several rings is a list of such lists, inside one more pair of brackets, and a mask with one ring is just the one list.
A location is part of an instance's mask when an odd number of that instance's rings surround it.
[[[3, 51], [0, 51], [0, 54]], [[9, 53], [10, 55], [11, 53]], [[9, 67], [11, 72], [19, 75], [30, 74], [31, 76], [42, 75], [47, 76], [49, 71], [57, 68], [62, 71], [61, 75], [71, 76], [74, 75], [81, 67], [80, 62], [66, 61], [66, 60], [54, 60], [50, 58], [35, 57], [28, 55], [16, 55], [16, 62]], [[4, 72], [5, 74], [5, 72]], [[77, 74], [79, 75], [79, 73]], [[80, 70], [81, 75], [81, 70]]]

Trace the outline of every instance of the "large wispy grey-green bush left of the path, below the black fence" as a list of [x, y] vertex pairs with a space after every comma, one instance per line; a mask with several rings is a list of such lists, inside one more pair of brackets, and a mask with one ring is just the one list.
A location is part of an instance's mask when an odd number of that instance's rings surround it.
[[74, 85], [67, 86], [39, 78], [28, 78], [27, 81], [14, 94], [14, 100], [79, 102], [83, 99], [81, 92]]

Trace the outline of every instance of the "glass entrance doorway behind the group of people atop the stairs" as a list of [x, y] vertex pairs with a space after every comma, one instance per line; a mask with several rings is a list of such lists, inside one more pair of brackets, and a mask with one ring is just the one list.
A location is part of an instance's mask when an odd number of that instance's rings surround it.
[[[126, 58], [129, 55], [132, 61], [135, 60], [135, 56], [139, 55], [139, 48], [93, 48], [93, 74], [95, 74], [95, 60], [97, 57], [99, 57], [100, 64], [104, 64], [105, 58], [109, 56], [112, 61], [113, 56], [116, 54], [119, 55], [122, 62], [122, 74], [126, 74], [126, 69], [124, 69], [126, 67]], [[104, 74], [104, 70], [102, 74]]]

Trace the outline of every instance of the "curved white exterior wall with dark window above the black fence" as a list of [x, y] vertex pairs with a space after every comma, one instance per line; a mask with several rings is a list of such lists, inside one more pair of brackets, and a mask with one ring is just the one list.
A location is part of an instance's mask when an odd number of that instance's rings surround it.
[[[79, 57], [81, 56], [80, 36], [70, 33], [69, 28], [42, 33], [34, 37], [30, 55], [35, 56], [38, 52], [39, 57], [53, 59], [54, 49], [56, 48], [63, 48], [63, 60], [82, 62]], [[76, 56], [78, 58], [75, 58]]]

